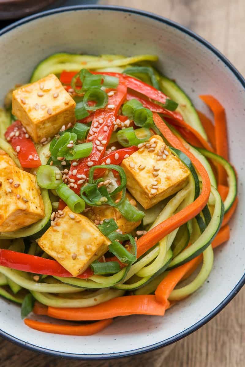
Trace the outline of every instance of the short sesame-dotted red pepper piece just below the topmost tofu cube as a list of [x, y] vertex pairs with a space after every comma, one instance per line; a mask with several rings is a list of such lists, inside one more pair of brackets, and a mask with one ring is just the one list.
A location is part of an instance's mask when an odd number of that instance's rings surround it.
[[11, 144], [15, 152], [18, 153], [18, 159], [24, 168], [36, 168], [41, 166], [39, 155], [37, 154], [35, 145], [21, 121], [14, 121], [4, 134], [6, 140]]

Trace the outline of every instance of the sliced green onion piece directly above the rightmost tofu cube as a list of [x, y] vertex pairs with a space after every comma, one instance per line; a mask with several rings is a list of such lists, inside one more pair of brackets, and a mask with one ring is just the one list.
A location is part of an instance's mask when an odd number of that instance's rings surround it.
[[123, 130], [119, 130], [117, 133], [118, 142], [125, 147], [138, 145], [148, 140], [151, 137], [149, 129], [140, 128], [134, 130], [133, 127], [128, 127]]

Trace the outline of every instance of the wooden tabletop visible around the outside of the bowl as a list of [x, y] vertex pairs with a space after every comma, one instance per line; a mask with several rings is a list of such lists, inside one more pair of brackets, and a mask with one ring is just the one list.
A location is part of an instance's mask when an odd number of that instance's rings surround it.
[[[81, 1], [84, 3], [85, 1]], [[101, 0], [155, 12], [194, 30], [245, 75], [245, 0]], [[37, 355], [0, 338], [0, 367], [242, 367], [245, 288], [213, 320], [174, 346], [109, 361], [69, 361]], [[167, 352], [169, 354], [166, 356]]]

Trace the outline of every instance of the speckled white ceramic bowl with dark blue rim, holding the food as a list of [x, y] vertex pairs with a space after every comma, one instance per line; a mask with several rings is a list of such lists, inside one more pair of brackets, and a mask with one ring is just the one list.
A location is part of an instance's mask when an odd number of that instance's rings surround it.
[[35, 65], [53, 52], [157, 54], [158, 68], [177, 80], [198, 109], [209, 113], [198, 99], [199, 94], [212, 94], [226, 107], [230, 158], [239, 175], [239, 208], [231, 222], [231, 240], [215, 251], [209, 282], [168, 310], [164, 317], [118, 319], [105, 331], [89, 337], [43, 334], [25, 326], [18, 306], [0, 299], [1, 335], [37, 352], [100, 359], [153, 350], [197, 330], [245, 282], [245, 80], [201, 37], [168, 19], [138, 10], [101, 6], [60, 8], [25, 18], [0, 35], [1, 102], [10, 87], [27, 82]]

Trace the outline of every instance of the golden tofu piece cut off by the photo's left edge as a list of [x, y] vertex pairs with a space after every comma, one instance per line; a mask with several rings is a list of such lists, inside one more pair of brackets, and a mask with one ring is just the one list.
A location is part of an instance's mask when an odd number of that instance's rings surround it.
[[36, 176], [14, 165], [1, 168], [0, 209], [0, 232], [12, 232], [42, 219], [44, 205]]

